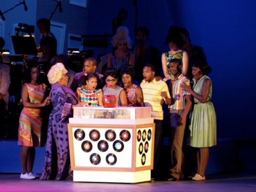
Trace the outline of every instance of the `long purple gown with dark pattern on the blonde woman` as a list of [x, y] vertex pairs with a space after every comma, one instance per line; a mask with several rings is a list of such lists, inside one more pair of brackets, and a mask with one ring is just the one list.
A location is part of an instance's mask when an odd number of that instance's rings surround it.
[[51, 92], [52, 112], [49, 115], [46, 157], [41, 180], [73, 180], [70, 167], [67, 123], [61, 121], [65, 103], [77, 104], [75, 93], [61, 84], [53, 84]]

